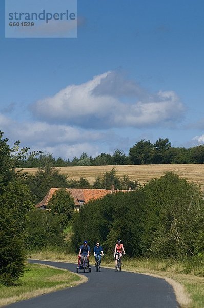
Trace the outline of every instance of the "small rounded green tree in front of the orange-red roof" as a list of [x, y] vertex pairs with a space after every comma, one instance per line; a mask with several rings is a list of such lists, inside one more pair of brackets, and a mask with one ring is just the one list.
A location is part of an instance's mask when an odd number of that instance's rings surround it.
[[47, 208], [51, 210], [53, 216], [58, 218], [62, 229], [64, 229], [72, 219], [75, 208], [74, 199], [69, 191], [61, 188], [49, 200]]

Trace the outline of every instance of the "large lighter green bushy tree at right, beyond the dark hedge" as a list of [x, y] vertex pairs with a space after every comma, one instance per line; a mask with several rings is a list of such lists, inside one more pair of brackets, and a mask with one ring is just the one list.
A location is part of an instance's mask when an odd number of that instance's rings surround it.
[[169, 172], [149, 181], [143, 190], [147, 202], [144, 252], [181, 258], [202, 251], [198, 235], [203, 233], [204, 205], [199, 188]]

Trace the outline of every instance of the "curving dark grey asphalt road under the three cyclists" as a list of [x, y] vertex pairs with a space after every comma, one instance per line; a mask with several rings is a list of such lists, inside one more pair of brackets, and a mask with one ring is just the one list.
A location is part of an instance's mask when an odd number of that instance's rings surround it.
[[[76, 264], [29, 260], [66, 268], [76, 273]], [[103, 265], [103, 264], [102, 264]], [[13, 308], [178, 308], [173, 288], [166, 280], [101, 267], [101, 272], [83, 273], [86, 283], [11, 304]]]

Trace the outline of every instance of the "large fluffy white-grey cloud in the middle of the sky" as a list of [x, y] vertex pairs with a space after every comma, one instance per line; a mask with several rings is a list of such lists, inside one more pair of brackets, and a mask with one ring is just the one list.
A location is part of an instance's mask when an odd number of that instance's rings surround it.
[[172, 126], [185, 107], [173, 91], [150, 95], [136, 82], [108, 71], [81, 85], [69, 85], [31, 108], [38, 119], [84, 128]]

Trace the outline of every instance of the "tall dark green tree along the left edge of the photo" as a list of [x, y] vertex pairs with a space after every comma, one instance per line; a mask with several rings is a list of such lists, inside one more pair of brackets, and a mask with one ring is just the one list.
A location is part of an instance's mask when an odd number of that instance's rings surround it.
[[27, 211], [32, 207], [28, 188], [19, 181], [15, 168], [28, 148], [13, 148], [0, 131], [0, 283], [12, 285], [25, 268], [24, 236]]

